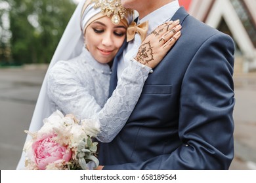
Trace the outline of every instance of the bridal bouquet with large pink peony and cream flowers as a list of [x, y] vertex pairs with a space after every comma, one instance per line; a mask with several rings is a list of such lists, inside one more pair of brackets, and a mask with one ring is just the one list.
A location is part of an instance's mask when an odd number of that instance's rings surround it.
[[74, 115], [64, 116], [56, 110], [43, 120], [37, 132], [25, 131], [32, 139], [26, 141], [26, 169], [90, 169], [98, 166], [97, 142], [93, 138], [100, 131], [95, 121], [82, 120]]

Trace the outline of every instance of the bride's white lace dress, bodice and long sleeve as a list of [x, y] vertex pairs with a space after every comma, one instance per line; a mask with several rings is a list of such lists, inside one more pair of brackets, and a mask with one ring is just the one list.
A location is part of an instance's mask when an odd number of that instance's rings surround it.
[[151, 70], [131, 61], [108, 99], [110, 67], [98, 63], [84, 48], [77, 58], [58, 61], [49, 71], [47, 94], [51, 108], [99, 123], [97, 139], [110, 142], [127, 122]]

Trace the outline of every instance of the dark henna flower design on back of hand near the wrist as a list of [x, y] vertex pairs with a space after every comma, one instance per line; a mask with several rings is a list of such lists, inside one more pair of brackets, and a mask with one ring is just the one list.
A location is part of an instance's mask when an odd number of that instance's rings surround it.
[[140, 46], [135, 59], [142, 64], [146, 64], [146, 63], [149, 63], [150, 61], [154, 60], [153, 50], [152, 50], [150, 41], [148, 41]]

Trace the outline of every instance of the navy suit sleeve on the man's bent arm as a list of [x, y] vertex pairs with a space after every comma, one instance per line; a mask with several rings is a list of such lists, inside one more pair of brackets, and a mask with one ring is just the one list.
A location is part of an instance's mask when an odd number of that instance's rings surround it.
[[104, 169], [228, 169], [234, 158], [234, 43], [209, 37], [190, 61], [181, 85], [179, 137], [175, 151], [144, 162]]

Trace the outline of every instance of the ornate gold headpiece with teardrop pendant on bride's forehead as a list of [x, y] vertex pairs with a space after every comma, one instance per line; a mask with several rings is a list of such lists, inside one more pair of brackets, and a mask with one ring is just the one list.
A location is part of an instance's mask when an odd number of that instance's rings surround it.
[[117, 25], [127, 14], [131, 14], [133, 11], [129, 8], [125, 8], [121, 5], [120, 0], [91, 0], [95, 3], [94, 8], [101, 9], [102, 14], [106, 14], [110, 17], [112, 14], [111, 21]]

